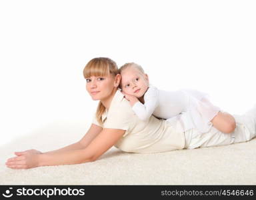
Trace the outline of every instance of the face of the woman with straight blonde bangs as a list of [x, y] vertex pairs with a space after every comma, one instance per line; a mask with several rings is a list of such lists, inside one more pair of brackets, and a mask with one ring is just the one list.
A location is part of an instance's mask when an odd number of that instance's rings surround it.
[[107, 99], [118, 85], [119, 80], [111, 74], [103, 77], [92, 76], [86, 78], [86, 90], [93, 100], [102, 101]]

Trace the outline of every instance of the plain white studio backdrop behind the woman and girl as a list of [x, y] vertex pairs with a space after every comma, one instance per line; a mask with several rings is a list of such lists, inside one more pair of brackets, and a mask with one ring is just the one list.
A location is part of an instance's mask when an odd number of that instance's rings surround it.
[[[256, 103], [255, 1], [0, 1], [0, 144], [91, 123], [83, 67], [142, 65], [159, 89], [198, 89], [229, 113]], [[85, 129], [86, 133], [86, 129]]]

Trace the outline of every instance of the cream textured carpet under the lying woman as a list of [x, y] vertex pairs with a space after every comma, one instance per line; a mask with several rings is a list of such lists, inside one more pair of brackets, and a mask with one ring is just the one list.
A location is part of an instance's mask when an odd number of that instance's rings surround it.
[[93, 163], [9, 169], [14, 151], [51, 151], [78, 141], [89, 123], [59, 121], [0, 146], [1, 185], [256, 185], [256, 139], [168, 153], [124, 153], [112, 147]]

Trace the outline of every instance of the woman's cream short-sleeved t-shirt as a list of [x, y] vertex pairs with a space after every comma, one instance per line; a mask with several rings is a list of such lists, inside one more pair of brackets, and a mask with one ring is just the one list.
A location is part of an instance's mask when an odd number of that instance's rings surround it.
[[170, 125], [165, 120], [151, 115], [149, 119], [142, 121], [119, 90], [101, 118], [103, 126], [99, 125], [96, 118], [93, 123], [103, 128], [125, 130], [123, 137], [115, 144], [115, 147], [122, 151], [157, 153], [183, 149], [185, 146], [183, 128], [179, 120]]

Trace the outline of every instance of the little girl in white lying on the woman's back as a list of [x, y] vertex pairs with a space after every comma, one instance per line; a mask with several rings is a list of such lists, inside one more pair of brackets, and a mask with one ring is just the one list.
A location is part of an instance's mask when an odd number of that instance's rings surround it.
[[[184, 131], [196, 128], [205, 133], [214, 126], [223, 133], [235, 130], [235, 119], [213, 105], [206, 93], [192, 89], [163, 91], [149, 85], [149, 78], [136, 63], [126, 63], [119, 69], [121, 90], [133, 111], [141, 120], [151, 115], [167, 119], [169, 123], [179, 117]], [[183, 113], [183, 115], [179, 115]], [[189, 120], [188, 120], [189, 119]]]

